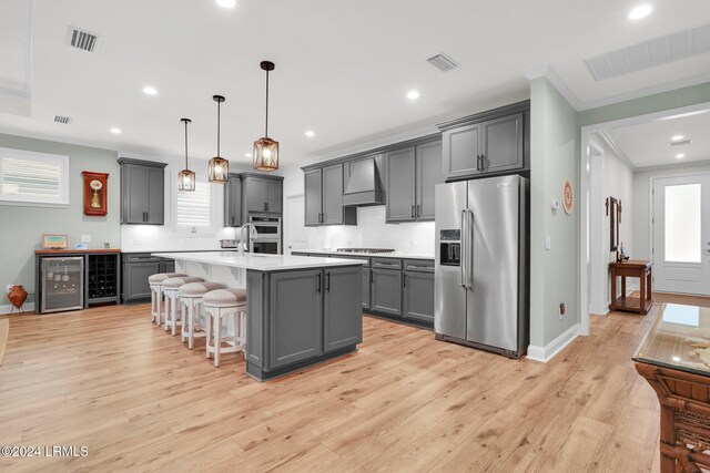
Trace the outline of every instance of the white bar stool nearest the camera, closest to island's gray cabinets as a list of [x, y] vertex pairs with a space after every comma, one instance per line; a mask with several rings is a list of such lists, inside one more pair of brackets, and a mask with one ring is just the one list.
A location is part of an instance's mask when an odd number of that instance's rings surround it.
[[[217, 289], [202, 296], [207, 323], [205, 354], [214, 353], [214, 366], [220, 366], [221, 353], [234, 353], [246, 348], [246, 291], [244, 289]], [[222, 319], [232, 316], [234, 335], [222, 336]], [[222, 342], [231, 347], [222, 347]]]

